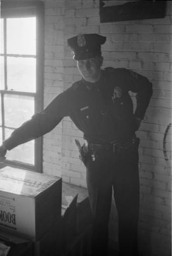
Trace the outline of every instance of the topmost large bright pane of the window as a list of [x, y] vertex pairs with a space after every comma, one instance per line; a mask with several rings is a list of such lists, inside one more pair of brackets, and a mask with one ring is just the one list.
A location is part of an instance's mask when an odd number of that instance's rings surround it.
[[7, 53], [36, 54], [36, 17], [7, 18]]

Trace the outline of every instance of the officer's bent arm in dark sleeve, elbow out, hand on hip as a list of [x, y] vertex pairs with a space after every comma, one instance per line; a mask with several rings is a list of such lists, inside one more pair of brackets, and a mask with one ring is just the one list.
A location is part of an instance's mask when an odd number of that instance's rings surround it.
[[139, 127], [153, 94], [152, 84], [145, 76], [130, 70], [126, 70], [125, 78], [127, 90], [136, 93], [137, 106], [134, 115]]

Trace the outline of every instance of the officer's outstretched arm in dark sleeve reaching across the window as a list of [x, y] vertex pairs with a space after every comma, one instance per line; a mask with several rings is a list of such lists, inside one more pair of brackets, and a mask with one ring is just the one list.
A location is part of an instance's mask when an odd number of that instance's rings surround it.
[[11, 150], [53, 130], [63, 117], [68, 115], [66, 97], [66, 93], [59, 94], [44, 111], [33, 115], [31, 120], [26, 121], [22, 126], [14, 130], [11, 136], [3, 141], [3, 145], [0, 147], [0, 156], [3, 157], [6, 154], [3, 150], [4, 147], [6, 150]]

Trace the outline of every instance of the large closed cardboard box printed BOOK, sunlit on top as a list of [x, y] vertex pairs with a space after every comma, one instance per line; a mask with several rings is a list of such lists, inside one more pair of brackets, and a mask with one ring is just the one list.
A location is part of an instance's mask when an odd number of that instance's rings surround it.
[[60, 217], [62, 179], [6, 166], [0, 170], [1, 230], [38, 240]]

